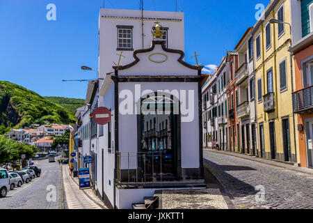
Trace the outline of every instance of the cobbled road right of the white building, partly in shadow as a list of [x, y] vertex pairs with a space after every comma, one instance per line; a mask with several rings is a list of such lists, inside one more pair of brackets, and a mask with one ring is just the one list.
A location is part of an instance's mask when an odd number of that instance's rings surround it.
[[[203, 157], [236, 208], [313, 208], [312, 175], [211, 151], [204, 151]], [[262, 197], [262, 187], [264, 201], [257, 202], [255, 197]]]

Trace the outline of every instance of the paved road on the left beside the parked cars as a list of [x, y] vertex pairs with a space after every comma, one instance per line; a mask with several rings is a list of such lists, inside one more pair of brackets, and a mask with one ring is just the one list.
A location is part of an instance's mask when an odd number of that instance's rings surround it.
[[[34, 161], [35, 162], [35, 161]], [[62, 173], [58, 162], [48, 160], [37, 161], [41, 168], [41, 176], [22, 187], [15, 187], [8, 192], [7, 197], [0, 198], [0, 209], [61, 209], [62, 202]], [[56, 201], [48, 201], [48, 185], [56, 189]], [[51, 197], [50, 197], [51, 198]]]

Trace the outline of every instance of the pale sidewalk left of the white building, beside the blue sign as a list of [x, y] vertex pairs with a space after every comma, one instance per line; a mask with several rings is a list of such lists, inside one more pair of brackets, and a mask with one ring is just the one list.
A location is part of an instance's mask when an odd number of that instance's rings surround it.
[[62, 166], [65, 208], [68, 209], [107, 209], [91, 189], [79, 190], [78, 178], [72, 178], [67, 165]]

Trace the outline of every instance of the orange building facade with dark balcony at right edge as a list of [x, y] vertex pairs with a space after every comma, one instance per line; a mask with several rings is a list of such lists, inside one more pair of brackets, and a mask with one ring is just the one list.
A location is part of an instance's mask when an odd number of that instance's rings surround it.
[[293, 109], [298, 114], [300, 165], [313, 167], [313, 40], [294, 46], [291, 52], [296, 78]]

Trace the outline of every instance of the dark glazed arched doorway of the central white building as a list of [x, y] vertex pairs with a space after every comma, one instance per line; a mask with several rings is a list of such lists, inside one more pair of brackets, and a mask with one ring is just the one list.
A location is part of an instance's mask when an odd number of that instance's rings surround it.
[[145, 181], [177, 177], [179, 102], [173, 95], [141, 99], [138, 167]]

